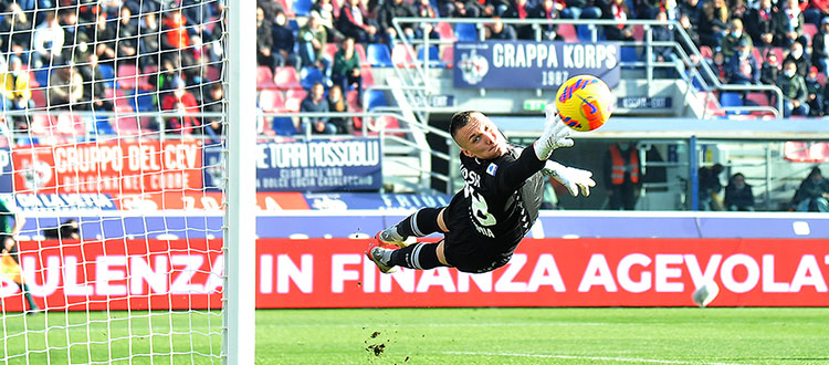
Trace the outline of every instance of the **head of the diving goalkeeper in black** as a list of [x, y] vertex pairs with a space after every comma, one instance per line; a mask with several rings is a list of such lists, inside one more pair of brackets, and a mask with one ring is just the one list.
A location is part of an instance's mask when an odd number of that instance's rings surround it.
[[470, 122], [458, 129], [454, 140], [469, 157], [493, 159], [506, 154], [506, 138], [495, 123], [481, 113], [471, 115]]

